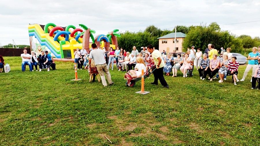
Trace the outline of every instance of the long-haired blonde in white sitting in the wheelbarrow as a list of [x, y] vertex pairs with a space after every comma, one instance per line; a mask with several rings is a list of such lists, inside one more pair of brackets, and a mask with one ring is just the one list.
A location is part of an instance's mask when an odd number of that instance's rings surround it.
[[137, 56], [136, 62], [137, 64], [135, 65], [135, 70], [129, 71], [131, 73], [132, 78], [140, 77], [142, 75], [142, 69], [144, 70], [144, 75], [146, 74], [146, 65], [142, 57]]

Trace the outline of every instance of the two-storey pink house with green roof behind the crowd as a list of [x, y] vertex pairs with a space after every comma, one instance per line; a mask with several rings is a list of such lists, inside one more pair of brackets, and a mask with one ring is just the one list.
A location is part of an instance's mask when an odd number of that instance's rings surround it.
[[[168, 35], [164, 35], [159, 37], [159, 51], [162, 52], [163, 50], [166, 53], [172, 53], [174, 51], [174, 41], [175, 33], [169, 33]], [[177, 32], [176, 33], [176, 52], [182, 52], [182, 43], [183, 39], [186, 37], [184, 33]]]

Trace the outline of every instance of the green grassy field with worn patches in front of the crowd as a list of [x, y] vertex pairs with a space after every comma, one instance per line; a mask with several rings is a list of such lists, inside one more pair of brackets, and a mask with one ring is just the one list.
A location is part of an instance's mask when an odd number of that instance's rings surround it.
[[[89, 83], [85, 70], [74, 79], [73, 63], [55, 71], [21, 71], [20, 57], [4, 57], [0, 74], [0, 145], [260, 145], [260, 90], [250, 75], [234, 86], [193, 77], [166, 76], [170, 88], [138, 81], [125, 86], [124, 72], [111, 71], [114, 85]], [[239, 67], [239, 79], [246, 65]], [[110, 143], [106, 138], [112, 142]]]

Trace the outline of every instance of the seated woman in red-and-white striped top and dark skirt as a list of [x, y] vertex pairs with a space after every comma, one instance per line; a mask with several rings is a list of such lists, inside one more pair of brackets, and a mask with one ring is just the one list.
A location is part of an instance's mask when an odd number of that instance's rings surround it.
[[234, 85], [237, 85], [236, 81], [239, 82], [239, 80], [237, 79], [239, 63], [236, 62], [236, 60], [237, 60], [236, 56], [233, 56], [231, 58], [231, 62], [229, 62], [228, 64], [228, 72], [227, 72], [227, 75], [233, 75]]

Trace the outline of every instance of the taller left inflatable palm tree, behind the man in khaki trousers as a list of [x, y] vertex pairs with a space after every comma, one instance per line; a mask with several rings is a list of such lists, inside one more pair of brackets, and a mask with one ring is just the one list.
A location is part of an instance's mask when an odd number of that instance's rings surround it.
[[92, 42], [95, 42], [95, 38], [93, 36], [94, 33], [96, 33], [96, 31], [88, 28], [86, 25], [84, 24], [79, 24], [79, 26], [84, 29], [85, 31], [83, 31], [82, 33], [80, 33], [80, 36], [83, 35], [83, 47], [86, 49], [86, 51], [88, 52], [88, 54], [90, 53], [89, 51], [89, 38], [92, 39]]

